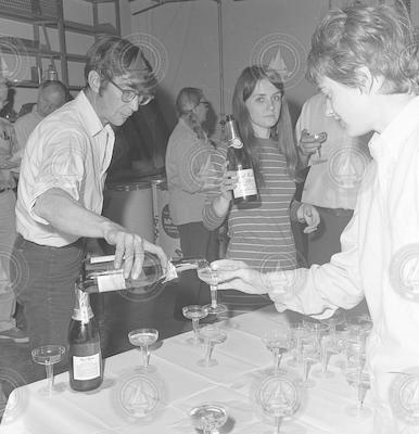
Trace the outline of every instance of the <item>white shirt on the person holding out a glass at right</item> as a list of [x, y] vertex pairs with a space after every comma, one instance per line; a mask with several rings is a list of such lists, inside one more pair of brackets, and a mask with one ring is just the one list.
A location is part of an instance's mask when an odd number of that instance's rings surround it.
[[[365, 295], [373, 321], [367, 355], [374, 433], [395, 434], [405, 425], [392, 411], [402, 399], [391, 388], [397, 382], [392, 372], [419, 367], [419, 97], [372, 137], [369, 148], [373, 161], [341, 235], [342, 252], [329, 264], [300, 269], [297, 281], [304, 284], [287, 306], [321, 318]], [[283, 310], [275, 289], [270, 296]]]

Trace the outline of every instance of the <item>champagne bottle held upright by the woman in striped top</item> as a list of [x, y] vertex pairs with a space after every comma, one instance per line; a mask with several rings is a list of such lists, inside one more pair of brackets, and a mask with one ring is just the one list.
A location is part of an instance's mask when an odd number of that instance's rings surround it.
[[232, 191], [234, 204], [257, 200], [257, 187], [252, 159], [237, 130], [234, 117], [226, 116], [227, 169], [237, 174], [237, 186]]

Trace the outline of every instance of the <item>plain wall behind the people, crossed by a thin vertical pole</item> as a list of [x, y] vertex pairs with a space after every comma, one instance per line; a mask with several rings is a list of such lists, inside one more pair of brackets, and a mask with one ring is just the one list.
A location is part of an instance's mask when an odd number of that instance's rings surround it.
[[[134, 13], [151, 4], [137, 0], [130, 7]], [[316, 23], [328, 7], [329, 0], [223, 0], [227, 112], [242, 68], [261, 59], [269, 61], [281, 47], [290, 73], [285, 92], [295, 117], [301, 104], [315, 92], [304, 78], [305, 58]], [[132, 31], [136, 30], [157, 38], [166, 50], [167, 71], [161, 84], [161, 100], [165, 101], [163, 110], [169, 123], [174, 118], [173, 101], [185, 86], [202, 88], [219, 113], [215, 1], [163, 4], [132, 16]]]

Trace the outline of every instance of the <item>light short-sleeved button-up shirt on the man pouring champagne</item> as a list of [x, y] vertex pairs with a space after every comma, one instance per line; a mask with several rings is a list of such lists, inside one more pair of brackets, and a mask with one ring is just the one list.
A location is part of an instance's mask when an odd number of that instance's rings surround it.
[[85, 208], [101, 214], [103, 187], [115, 136], [103, 126], [81, 91], [74, 101], [47, 116], [30, 135], [21, 165], [16, 229], [26, 240], [63, 246], [77, 237], [63, 233], [34, 213], [46, 191], [66, 191]]

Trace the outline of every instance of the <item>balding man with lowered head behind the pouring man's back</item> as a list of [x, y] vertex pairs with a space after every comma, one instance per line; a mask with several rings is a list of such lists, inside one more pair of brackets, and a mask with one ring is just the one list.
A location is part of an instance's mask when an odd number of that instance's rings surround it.
[[[37, 103], [31, 112], [20, 117], [14, 123], [14, 131], [22, 157], [27, 139], [35, 127], [49, 114], [60, 108], [68, 101], [68, 90], [61, 81], [43, 81], [38, 89]], [[16, 155], [14, 156], [16, 157]]]

